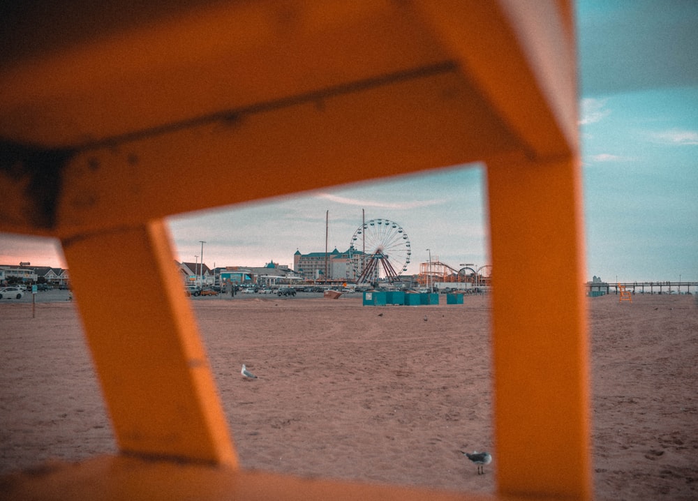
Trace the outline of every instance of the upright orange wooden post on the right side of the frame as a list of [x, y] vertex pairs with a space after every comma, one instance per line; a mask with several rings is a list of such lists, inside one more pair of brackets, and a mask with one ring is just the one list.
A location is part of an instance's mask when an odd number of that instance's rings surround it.
[[487, 167], [499, 490], [591, 499], [579, 165]]

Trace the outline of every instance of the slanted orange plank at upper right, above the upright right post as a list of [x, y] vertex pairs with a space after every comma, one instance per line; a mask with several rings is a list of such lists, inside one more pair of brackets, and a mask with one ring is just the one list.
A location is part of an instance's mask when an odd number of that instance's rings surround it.
[[576, 54], [566, 1], [424, 0], [419, 7], [529, 158], [577, 150]]

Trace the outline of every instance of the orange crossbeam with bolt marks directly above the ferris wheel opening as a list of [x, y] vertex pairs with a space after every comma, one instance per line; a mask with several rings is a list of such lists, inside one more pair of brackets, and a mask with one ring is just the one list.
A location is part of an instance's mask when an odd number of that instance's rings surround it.
[[[516, 149], [486, 103], [459, 98], [470, 93], [445, 68], [84, 151], [64, 169], [53, 231], [132, 225]], [[200, 188], [207, 180], [214, 186]]]

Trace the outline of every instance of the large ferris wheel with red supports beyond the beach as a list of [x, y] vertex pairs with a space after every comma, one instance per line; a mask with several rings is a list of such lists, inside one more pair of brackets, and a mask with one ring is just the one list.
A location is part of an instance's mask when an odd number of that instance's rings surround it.
[[410, 264], [410, 239], [389, 219], [371, 219], [359, 226], [349, 242], [350, 280], [357, 283], [387, 278], [396, 281]]

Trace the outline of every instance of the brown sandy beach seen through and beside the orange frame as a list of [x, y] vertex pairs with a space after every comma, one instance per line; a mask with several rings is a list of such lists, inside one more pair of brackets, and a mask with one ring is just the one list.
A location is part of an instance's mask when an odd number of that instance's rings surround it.
[[[192, 304], [244, 468], [494, 492], [487, 297]], [[588, 311], [596, 498], [697, 499], [695, 297], [611, 295]], [[0, 331], [0, 474], [116, 452], [75, 305], [43, 302], [32, 318], [2, 301]], [[477, 475], [459, 449], [494, 461]]]

